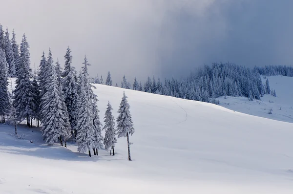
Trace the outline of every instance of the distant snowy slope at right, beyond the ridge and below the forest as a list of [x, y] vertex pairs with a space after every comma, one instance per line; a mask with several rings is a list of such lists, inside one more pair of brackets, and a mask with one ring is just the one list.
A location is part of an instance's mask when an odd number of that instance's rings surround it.
[[[272, 89], [276, 90], [277, 96], [265, 95], [261, 100], [249, 101], [246, 97], [218, 98], [220, 106], [278, 121], [293, 123], [293, 77], [267, 76]], [[263, 83], [266, 82], [262, 79]], [[272, 109], [272, 114], [268, 114]]]

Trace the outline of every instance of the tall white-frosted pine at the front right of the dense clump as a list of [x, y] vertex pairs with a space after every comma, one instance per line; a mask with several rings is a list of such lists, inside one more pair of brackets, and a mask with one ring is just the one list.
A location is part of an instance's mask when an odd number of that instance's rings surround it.
[[[87, 60], [85, 58], [85, 64]], [[83, 77], [83, 76], [82, 76]], [[83, 78], [82, 78], [83, 79]], [[93, 128], [92, 108], [86, 87], [84, 87], [84, 79], [80, 83], [81, 91], [79, 95], [79, 110], [76, 144], [79, 152], [88, 151], [88, 156], [91, 157], [90, 150], [95, 148], [95, 131]]]

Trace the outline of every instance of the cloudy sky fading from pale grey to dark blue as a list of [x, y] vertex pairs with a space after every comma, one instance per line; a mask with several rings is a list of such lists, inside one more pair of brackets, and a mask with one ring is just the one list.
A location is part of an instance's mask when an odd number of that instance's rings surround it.
[[0, 23], [18, 43], [23, 33], [31, 63], [51, 47], [64, 63], [70, 46], [90, 76], [184, 77], [202, 65], [292, 65], [292, 0], [1, 0]]

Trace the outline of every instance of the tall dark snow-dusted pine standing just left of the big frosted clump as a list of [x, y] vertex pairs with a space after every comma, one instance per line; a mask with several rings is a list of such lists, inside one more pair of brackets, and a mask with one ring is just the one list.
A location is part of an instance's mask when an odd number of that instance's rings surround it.
[[14, 90], [14, 103], [16, 105], [17, 118], [21, 122], [26, 119], [26, 124], [31, 127], [30, 120], [34, 114], [32, 93], [34, 88], [30, 81], [32, 78], [32, 69], [30, 68], [29, 44], [23, 34], [21, 42], [21, 55], [18, 61], [18, 72], [16, 77], [16, 86]]

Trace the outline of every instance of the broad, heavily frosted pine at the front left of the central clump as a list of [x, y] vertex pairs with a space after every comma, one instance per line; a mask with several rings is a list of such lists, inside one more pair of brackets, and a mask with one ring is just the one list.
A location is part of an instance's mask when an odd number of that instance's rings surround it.
[[53, 65], [52, 53], [49, 50], [47, 60], [47, 77], [45, 93], [41, 98], [42, 106], [42, 136], [46, 143], [53, 145], [54, 142], [67, 140], [71, 136], [68, 113], [63, 102], [62, 90], [58, 86], [57, 76]]

